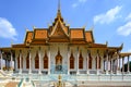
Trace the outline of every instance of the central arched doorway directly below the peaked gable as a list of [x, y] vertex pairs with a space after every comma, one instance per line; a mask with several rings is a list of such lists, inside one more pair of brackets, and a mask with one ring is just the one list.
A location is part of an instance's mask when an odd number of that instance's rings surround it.
[[62, 55], [58, 50], [58, 54], [56, 55], [56, 71], [62, 71]]

